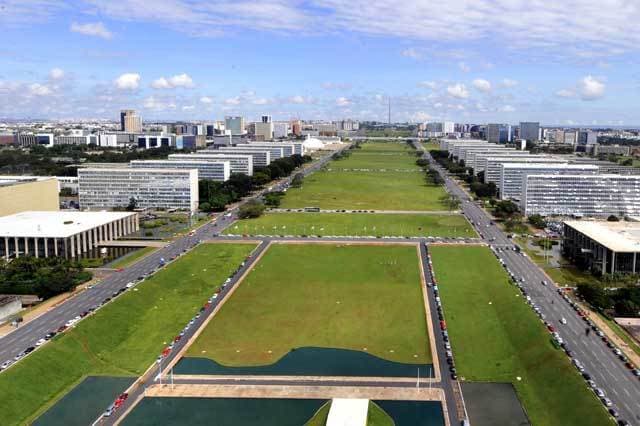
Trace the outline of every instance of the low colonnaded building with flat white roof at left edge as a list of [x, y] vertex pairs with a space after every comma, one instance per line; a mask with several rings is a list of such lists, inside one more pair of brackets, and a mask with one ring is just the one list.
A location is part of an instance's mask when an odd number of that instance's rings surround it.
[[138, 229], [132, 212], [26, 211], [0, 217], [0, 256], [95, 257], [101, 243]]

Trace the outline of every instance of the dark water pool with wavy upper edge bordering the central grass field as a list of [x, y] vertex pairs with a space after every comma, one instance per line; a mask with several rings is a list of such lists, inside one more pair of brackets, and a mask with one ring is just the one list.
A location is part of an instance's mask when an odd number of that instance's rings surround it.
[[187, 357], [174, 374], [278, 375], [278, 376], [375, 376], [433, 377], [432, 364], [387, 361], [362, 351], [331, 348], [299, 348], [276, 363], [260, 367], [227, 367], [209, 358]]

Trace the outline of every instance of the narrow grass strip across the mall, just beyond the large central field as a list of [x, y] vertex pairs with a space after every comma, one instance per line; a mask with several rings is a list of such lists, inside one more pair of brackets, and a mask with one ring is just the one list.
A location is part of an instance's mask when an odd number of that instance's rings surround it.
[[246, 235], [477, 237], [458, 214], [270, 213], [224, 231]]

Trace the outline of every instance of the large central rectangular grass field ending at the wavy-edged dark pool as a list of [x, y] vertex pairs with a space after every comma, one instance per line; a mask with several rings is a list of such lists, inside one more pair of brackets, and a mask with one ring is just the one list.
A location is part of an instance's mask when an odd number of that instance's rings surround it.
[[272, 244], [187, 356], [269, 365], [294, 348], [431, 361], [415, 246]]

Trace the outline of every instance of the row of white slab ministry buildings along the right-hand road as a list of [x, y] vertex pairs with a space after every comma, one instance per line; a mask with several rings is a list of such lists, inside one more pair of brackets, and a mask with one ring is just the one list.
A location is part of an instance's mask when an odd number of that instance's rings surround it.
[[574, 155], [538, 155], [484, 140], [442, 139], [501, 199], [526, 216], [640, 215], [640, 169]]

